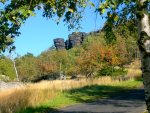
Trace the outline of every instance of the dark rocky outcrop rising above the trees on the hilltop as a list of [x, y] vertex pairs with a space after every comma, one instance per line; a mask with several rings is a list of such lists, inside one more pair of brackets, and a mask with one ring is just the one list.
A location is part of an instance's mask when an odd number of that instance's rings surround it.
[[68, 40], [64, 42], [63, 38], [56, 38], [54, 39], [54, 45], [57, 50], [61, 49], [71, 49], [75, 46], [81, 45], [86, 38], [87, 33], [85, 32], [73, 32], [68, 36]]

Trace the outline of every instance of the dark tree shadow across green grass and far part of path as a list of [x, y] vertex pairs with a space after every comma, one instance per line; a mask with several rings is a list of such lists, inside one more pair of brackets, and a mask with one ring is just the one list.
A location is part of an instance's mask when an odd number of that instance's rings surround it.
[[[127, 89], [126, 87], [92, 85], [67, 91], [71, 98], [80, 103], [97, 101], [99, 99], [144, 100], [143, 89]], [[90, 97], [90, 98], [88, 98]]]

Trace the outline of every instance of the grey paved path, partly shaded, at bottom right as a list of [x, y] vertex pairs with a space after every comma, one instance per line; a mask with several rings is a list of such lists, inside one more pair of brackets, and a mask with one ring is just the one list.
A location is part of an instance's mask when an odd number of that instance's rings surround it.
[[111, 99], [68, 106], [57, 113], [142, 113], [144, 110], [144, 90], [136, 89]]

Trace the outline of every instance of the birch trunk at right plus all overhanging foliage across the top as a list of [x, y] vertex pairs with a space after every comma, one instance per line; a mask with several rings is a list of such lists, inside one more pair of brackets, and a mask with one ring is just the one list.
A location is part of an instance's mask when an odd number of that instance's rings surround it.
[[[22, 22], [33, 14], [35, 8], [43, 9], [43, 16], [47, 18], [58, 16], [65, 17], [64, 21], [69, 23], [69, 28], [79, 23], [81, 12], [87, 6], [98, 6], [90, 2], [92, 0], [11, 0], [10, 4], [0, 11], [0, 43], [1, 50], [5, 50], [8, 44], [7, 36], [17, 36], [18, 29]], [[145, 86], [145, 96], [147, 109], [150, 112], [150, 23], [149, 5], [150, 0], [99, 0], [97, 11], [100, 14], [107, 13], [107, 22], [103, 28], [106, 32], [108, 44], [115, 42], [114, 26], [125, 24], [133, 20], [138, 28], [138, 45], [141, 54], [143, 81]], [[5, 4], [5, 0], [1, 0]], [[59, 22], [59, 21], [58, 21]], [[130, 26], [130, 27], [131, 27]]]

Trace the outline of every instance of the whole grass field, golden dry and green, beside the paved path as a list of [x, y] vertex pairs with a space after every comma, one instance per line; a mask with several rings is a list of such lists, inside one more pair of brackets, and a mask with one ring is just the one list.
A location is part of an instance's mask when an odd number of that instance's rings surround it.
[[0, 113], [45, 113], [66, 105], [109, 98], [141, 81], [119, 81], [111, 77], [94, 80], [43, 81], [0, 93]]

